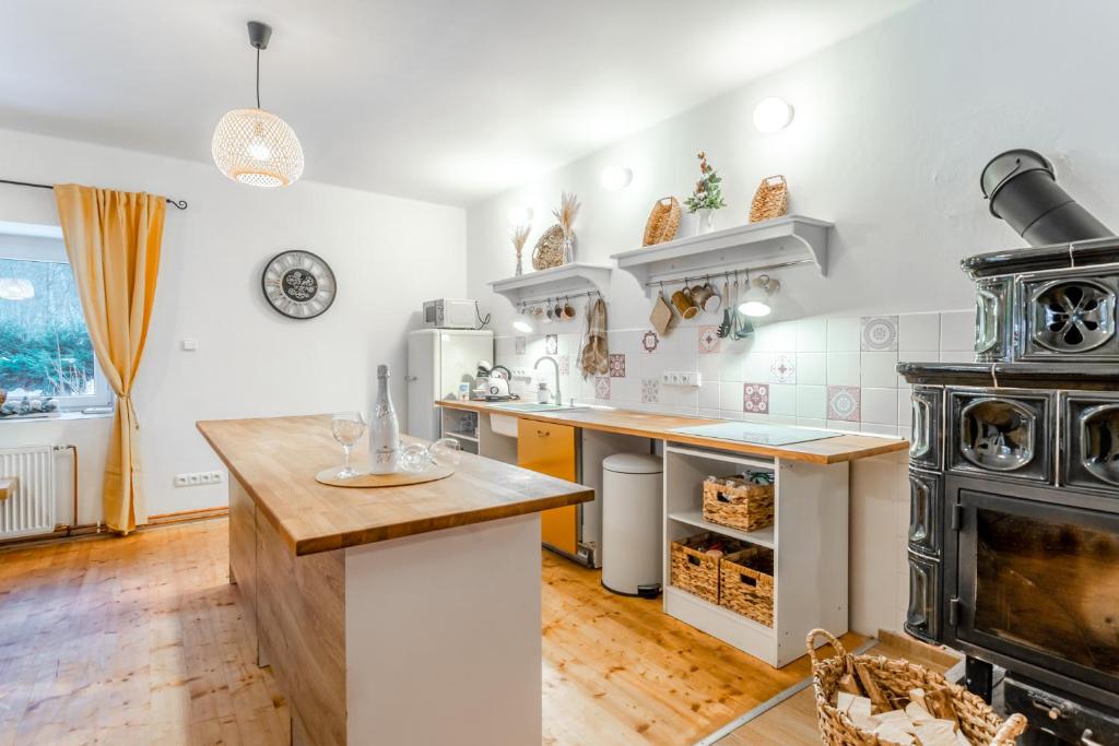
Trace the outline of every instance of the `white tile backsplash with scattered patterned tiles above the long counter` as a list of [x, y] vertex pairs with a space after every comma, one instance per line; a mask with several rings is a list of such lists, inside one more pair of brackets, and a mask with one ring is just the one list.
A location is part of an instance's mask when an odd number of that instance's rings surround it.
[[[896, 372], [897, 361], [971, 362], [972, 313], [911, 313], [874, 319], [896, 319], [900, 351], [861, 351], [865, 319], [859, 318], [801, 319], [760, 325], [753, 337], [720, 340], [720, 351], [703, 355], [698, 330], [717, 320], [678, 323], [660, 338], [652, 355], [641, 347], [648, 329], [611, 330], [610, 352], [626, 356], [626, 369], [624, 376], [610, 378], [610, 404], [645, 412], [908, 436], [910, 387]], [[565, 396], [593, 398], [594, 377], [583, 380], [577, 368], [581, 330], [551, 324], [540, 331], [544, 333], [525, 337], [524, 351], [519, 353], [514, 337], [497, 338], [497, 362], [510, 368], [530, 368], [545, 353], [545, 333], [558, 334], [560, 353], [555, 357], [566, 358], [571, 371], [562, 380]], [[791, 367], [794, 374], [774, 372], [775, 362]], [[703, 385], [659, 385], [666, 370], [697, 370]], [[656, 400], [641, 402], [642, 379], [658, 381]], [[744, 412], [743, 383], [768, 387], [768, 414]], [[857, 422], [826, 419], [829, 386], [857, 389], [861, 399]]]

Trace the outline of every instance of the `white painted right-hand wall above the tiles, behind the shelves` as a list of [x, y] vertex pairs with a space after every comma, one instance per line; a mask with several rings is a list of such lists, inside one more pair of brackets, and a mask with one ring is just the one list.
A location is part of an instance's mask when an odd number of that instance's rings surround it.
[[[717, 22], [717, 19], [712, 19]], [[833, 220], [830, 273], [781, 273], [786, 315], [897, 313], [970, 305], [960, 257], [1019, 246], [979, 192], [987, 160], [1033, 148], [1060, 182], [1119, 228], [1119, 103], [1107, 94], [1119, 6], [1044, 0], [934, 0], [792, 67], [670, 119], [468, 213], [469, 291], [507, 321], [511, 308], [486, 282], [513, 274], [506, 213], [535, 210], [529, 248], [563, 189], [583, 204], [577, 258], [603, 262], [640, 245], [653, 201], [690, 193], [695, 153], [724, 178], [716, 228], [746, 221], [759, 181], [783, 173], [790, 210]], [[697, 50], [697, 54], [698, 50]], [[633, 92], [640, 96], [640, 92]], [[780, 95], [796, 106], [775, 135], [752, 124], [754, 104]], [[605, 191], [601, 169], [633, 169]], [[647, 325], [649, 302], [614, 272], [610, 325]], [[499, 325], [499, 333], [507, 330]]]

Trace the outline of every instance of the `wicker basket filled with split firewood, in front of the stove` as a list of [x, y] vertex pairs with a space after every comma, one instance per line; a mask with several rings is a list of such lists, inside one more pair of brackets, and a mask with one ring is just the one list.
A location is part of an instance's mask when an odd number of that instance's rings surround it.
[[[816, 639], [835, 649], [820, 660]], [[1026, 729], [987, 702], [922, 665], [883, 655], [853, 655], [830, 633], [808, 633], [816, 719], [828, 746], [1010, 746]]]

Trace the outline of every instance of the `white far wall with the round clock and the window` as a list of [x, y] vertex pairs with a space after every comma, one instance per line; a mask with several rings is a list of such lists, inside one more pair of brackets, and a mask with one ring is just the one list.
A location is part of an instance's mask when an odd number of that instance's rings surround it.
[[[378, 362], [396, 371], [393, 394], [403, 413], [405, 331], [419, 324], [423, 300], [463, 295], [464, 214], [458, 208], [310, 182], [253, 189], [206, 163], [10, 131], [0, 131], [0, 162], [4, 178], [190, 202], [186, 211], [168, 208], [134, 391], [152, 514], [226, 502], [224, 485], [171, 485], [175, 473], [220, 466], [195, 429], [198, 419], [364, 408]], [[57, 225], [54, 197], [0, 185], [0, 220]], [[288, 248], [314, 252], [335, 271], [338, 298], [319, 319], [284, 319], [263, 300], [264, 263]], [[182, 351], [184, 338], [198, 340], [198, 351]], [[106, 423], [2, 423], [0, 447], [85, 444], [79, 518], [91, 522], [101, 518]], [[68, 506], [65, 497], [60, 520], [68, 520]]]

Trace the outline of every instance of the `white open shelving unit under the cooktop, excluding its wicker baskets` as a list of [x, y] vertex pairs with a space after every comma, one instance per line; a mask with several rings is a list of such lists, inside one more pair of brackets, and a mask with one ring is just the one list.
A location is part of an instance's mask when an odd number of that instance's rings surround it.
[[[703, 520], [703, 481], [744, 470], [774, 475], [774, 521], [741, 531]], [[848, 465], [665, 448], [665, 613], [781, 668], [805, 654], [814, 627], [847, 632]], [[671, 585], [671, 542], [713, 531], [773, 550], [773, 626]]]

